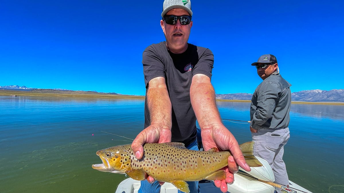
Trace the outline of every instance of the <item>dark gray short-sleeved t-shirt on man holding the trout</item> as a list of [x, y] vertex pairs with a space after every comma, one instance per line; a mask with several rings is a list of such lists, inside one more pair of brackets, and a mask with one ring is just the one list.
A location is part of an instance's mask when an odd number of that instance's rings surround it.
[[[196, 116], [190, 101], [192, 77], [204, 74], [211, 78], [214, 55], [211, 50], [188, 44], [182, 54], [173, 54], [166, 42], [152, 44], [142, 57], [146, 94], [148, 83], [156, 77], [164, 77], [172, 104], [172, 142], [188, 146], [196, 140]], [[144, 103], [144, 128], [150, 125], [147, 98]]]

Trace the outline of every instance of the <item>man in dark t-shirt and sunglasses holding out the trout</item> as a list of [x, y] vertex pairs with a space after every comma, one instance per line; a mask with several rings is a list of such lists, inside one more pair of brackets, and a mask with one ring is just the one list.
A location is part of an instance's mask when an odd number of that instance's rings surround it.
[[[144, 130], [132, 143], [137, 159], [141, 159], [145, 143], [181, 142], [188, 149], [198, 150], [196, 120], [201, 127], [203, 147], [208, 150], [230, 150], [226, 180], [216, 181], [221, 191], [233, 183], [237, 164], [247, 171], [238, 142], [222, 124], [211, 84], [214, 56], [211, 50], [188, 44], [193, 22], [190, 0], [165, 0], [160, 25], [166, 41], [152, 44], [143, 52], [143, 73], [146, 83]], [[237, 163], [237, 164], [236, 164]], [[141, 181], [139, 192], [160, 192], [151, 177]], [[162, 184], [162, 183], [161, 183]], [[196, 193], [198, 182], [188, 182]]]

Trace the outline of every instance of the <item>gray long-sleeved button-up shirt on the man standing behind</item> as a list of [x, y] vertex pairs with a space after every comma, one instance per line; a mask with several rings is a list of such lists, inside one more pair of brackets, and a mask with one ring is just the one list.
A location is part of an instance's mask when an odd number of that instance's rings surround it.
[[254, 129], [288, 127], [290, 121], [291, 84], [278, 73], [261, 82], [253, 93], [250, 126]]

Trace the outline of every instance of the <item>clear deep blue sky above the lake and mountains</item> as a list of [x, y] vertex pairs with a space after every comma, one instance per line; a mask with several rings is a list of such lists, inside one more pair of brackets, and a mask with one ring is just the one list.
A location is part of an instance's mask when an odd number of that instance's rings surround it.
[[[144, 95], [142, 52], [164, 41], [162, 0], [0, 5], [0, 86]], [[344, 89], [342, 1], [193, 0], [189, 43], [214, 53], [215, 92], [253, 93], [277, 57], [291, 91]]]

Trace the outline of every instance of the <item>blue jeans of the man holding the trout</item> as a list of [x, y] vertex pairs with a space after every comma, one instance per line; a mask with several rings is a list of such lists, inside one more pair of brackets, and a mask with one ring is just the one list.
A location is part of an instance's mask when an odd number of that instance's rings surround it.
[[[192, 144], [190, 144], [186, 148], [198, 151], [197, 140], [195, 140]], [[200, 193], [201, 192], [200, 189], [198, 189], [198, 181], [190, 181], [190, 182], [186, 182], [186, 183], [189, 184], [190, 192], [192, 192], [192, 193], [197, 193], [197, 192]], [[158, 181], [154, 181], [151, 184], [147, 180], [142, 180], [138, 193], [159, 193], [160, 188], [161, 188], [161, 186], [160, 186]], [[178, 193], [183, 193], [183, 192], [178, 190]]]

